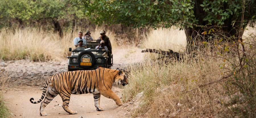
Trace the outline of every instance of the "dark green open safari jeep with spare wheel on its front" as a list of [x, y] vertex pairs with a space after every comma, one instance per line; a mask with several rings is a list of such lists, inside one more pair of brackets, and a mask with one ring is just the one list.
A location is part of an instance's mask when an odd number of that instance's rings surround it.
[[113, 55], [108, 56], [105, 49], [95, 49], [98, 42], [87, 42], [85, 49], [69, 48], [71, 56], [68, 58], [68, 71], [94, 70], [99, 67], [111, 68]]

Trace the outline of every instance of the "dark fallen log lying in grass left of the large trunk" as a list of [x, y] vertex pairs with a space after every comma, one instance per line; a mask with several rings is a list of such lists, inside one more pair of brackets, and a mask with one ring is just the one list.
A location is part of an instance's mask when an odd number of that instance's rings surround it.
[[164, 55], [165, 57], [168, 57], [168, 58], [175, 58], [178, 61], [182, 57], [180, 53], [174, 52], [174, 51], [172, 51], [170, 49], [169, 49], [169, 51], [163, 51], [163, 50], [156, 50], [156, 49], [148, 49], [147, 48], [146, 50], [142, 50], [141, 52], [142, 53], [144, 53], [144, 52], [158, 53], [158, 54]]

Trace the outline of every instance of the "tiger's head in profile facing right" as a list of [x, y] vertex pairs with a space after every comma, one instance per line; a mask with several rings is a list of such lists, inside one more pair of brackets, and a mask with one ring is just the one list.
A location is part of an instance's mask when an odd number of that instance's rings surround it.
[[128, 80], [126, 78], [125, 75], [125, 70], [124, 69], [119, 69], [117, 68], [117, 70], [119, 70], [118, 75], [115, 77], [115, 83], [116, 84], [122, 84], [123, 86], [128, 84]]

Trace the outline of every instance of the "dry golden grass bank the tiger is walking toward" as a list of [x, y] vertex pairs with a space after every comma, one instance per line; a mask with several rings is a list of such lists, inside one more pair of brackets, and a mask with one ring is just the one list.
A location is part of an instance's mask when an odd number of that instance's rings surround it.
[[220, 108], [218, 100], [223, 99], [224, 92], [221, 84], [183, 93], [219, 79], [223, 73], [218, 70], [221, 64], [221, 59], [213, 58], [170, 61], [167, 64], [157, 60], [146, 61], [129, 68], [130, 83], [124, 90], [124, 98], [130, 100], [144, 91], [144, 106], [133, 117], [210, 117]]

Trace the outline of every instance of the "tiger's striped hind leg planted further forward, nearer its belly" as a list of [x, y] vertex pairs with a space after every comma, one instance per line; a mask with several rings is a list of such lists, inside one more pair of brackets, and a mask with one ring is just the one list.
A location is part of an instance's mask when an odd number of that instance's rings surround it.
[[63, 105], [62, 105], [62, 108], [68, 112], [69, 114], [77, 114], [77, 111], [72, 111], [69, 109], [69, 101], [70, 101], [70, 96], [71, 96], [71, 93], [68, 93], [67, 91], [66, 92], [62, 92], [59, 94], [62, 98], [62, 101], [63, 101]]

